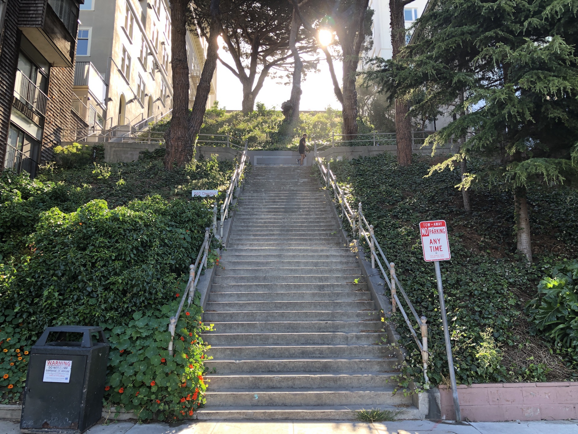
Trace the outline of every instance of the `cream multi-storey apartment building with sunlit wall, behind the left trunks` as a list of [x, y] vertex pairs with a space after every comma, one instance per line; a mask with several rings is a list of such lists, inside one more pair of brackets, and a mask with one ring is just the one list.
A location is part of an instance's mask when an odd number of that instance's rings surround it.
[[[171, 112], [166, 0], [85, 0], [77, 35], [75, 94], [91, 126], [139, 130]], [[198, 34], [187, 34], [191, 84], [200, 76], [205, 45]]]

